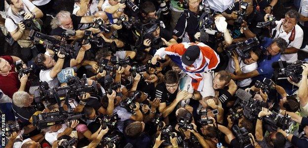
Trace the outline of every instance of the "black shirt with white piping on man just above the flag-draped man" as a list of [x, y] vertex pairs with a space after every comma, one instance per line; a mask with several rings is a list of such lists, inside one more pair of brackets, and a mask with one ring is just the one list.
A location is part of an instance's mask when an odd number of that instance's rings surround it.
[[194, 34], [198, 32], [198, 15], [192, 11], [182, 12], [174, 30], [173, 35], [179, 38], [183, 38], [187, 32], [190, 42], [194, 42]]

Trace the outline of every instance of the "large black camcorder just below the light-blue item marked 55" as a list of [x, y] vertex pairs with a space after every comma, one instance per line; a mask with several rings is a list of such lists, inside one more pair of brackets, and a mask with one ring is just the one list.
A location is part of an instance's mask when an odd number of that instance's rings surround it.
[[[72, 76], [68, 80], [68, 86], [49, 89], [48, 84], [42, 83], [37, 90], [34, 91], [34, 99], [36, 103], [45, 102], [47, 105], [54, 105], [58, 101], [63, 101], [67, 96], [74, 98], [83, 93], [98, 93], [96, 82], [88, 85], [85, 74], [82, 79]], [[57, 100], [59, 98], [59, 100]]]

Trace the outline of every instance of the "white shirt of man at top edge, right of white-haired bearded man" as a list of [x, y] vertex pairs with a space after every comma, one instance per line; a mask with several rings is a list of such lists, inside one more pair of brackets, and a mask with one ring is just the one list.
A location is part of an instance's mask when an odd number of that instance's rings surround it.
[[[97, 11], [98, 11], [98, 8], [97, 8], [97, 5], [98, 5], [98, 2], [97, 0], [92, 0], [92, 3], [90, 5], [90, 7], [88, 8], [87, 12], [85, 13], [84, 16], [91, 16], [91, 15], [94, 15]], [[73, 14], [77, 15], [77, 11], [80, 9], [80, 6], [77, 5], [77, 3], [75, 2], [74, 4], [74, 10], [73, 10]], [[78, 16], [78, 15], [77, 15]], [[79, 29], [85, 29], [89, 26], [89, 24], [79, 24]]]

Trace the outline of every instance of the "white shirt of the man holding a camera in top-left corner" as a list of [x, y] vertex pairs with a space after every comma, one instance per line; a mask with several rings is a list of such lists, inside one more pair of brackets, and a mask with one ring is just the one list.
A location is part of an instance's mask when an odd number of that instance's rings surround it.
[[[29, 0], [22, 0], [24, 2], [24, 10], [25, 12], [31, 13], [36, 6], [30, 2]], [[19, 22], [22, 22], [24, 18], [20, 14], [16, 14], [13, 12], [12, 8], [9, 7], [7, 10], [7, 16], [11, 17], [5, 19], [5, 28], [8, 32], [13, 32], [17, 29], [17, 25]]]

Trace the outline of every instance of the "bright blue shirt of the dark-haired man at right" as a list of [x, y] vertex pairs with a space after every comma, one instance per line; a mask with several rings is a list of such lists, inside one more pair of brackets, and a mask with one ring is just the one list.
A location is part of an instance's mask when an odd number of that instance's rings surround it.
[[[260, 46], [262, 51], [265, 52], [271, 43], [272, 39], [265, 37]], [[262, 81], [265, 77], [269, 79], [272, 77], [274, 69], [271, 67], [271, 64], [273, 62], [277, 62], [280, 59], [280, 53], [278, 53], [275, 56], [271, 56], [271, 58], [269, 58], [269, 56], [270, 55], [264, 54], [262, 59], [258, 62], [257, 71], [259, 75], [253, 78], [254, 81], [255, 80]]]

